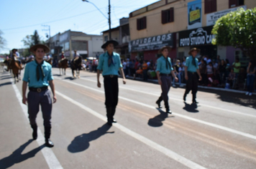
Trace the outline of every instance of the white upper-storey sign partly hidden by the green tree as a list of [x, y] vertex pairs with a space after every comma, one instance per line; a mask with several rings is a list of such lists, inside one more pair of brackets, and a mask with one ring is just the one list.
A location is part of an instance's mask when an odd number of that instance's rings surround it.
[[214, 25], [215, 22], [221, 18], [221, 16], [224, 16], [226, 14], [228, 14], [229, 12], [232, 12], [232, 11], [237, 11], [237, 9], [239, 8], [243, 8], [244, 10], [246, 10], [246, 5], [244, 6], [239, 6], [237, 8], [232, 8], [232, 9], [227, 9], [227, 10], [224, 10], [224, 11], [217, 11], [217, 12], [214, 12], [214, 13], [211, 13], [211, 14], [207, 14], [206, 15], [206, 25], [207, 26], [211, 26], [211, 25]]

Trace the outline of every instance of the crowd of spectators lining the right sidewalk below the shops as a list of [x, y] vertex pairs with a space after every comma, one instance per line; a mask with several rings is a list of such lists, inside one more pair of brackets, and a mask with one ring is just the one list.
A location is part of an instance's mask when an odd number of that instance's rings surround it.
[[[250, 61], [247, 67], [241, 67], [239, 58], [234, 63], [229, 63], [229, 59], [220, 59], [219, 55], [215, 59], [209, 56], [203, 56], [198, 59], [198, 67], [202, 80], [199, 85], [207, 87], [222, 87], [234, 90], [247, 90], [247, 95], [252, 95], [255, 91], [255, 72], [256, 65]], [[184, 70], [186, 65], [186, 57], [182, 59], [173, 59], [173, 69], [178, 77], [178, 84], [183, 87], [186, 83]], [[155, 69], [157, 62], [143, 59], [122, 59], [124, 74], [126, 77], [157, 79]], [[175, 79], [173, 79], [173, 87], [175, 87]]]

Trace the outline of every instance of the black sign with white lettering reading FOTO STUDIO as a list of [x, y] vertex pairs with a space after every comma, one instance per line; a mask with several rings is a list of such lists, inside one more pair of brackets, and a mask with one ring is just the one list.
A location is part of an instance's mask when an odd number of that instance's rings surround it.
[[212, 28], [213, 26], [206, 26], [204, 28], [179, 32], [179, 46], [196, 47], [198, 45], [211, 44], [211, 40], [214, 38], [214, 35], [211, 34]]

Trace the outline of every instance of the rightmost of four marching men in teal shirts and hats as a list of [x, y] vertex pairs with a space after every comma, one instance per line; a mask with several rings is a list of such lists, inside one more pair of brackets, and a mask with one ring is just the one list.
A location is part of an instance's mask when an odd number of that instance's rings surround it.
[[193, 47], [188, 54], [189, 57], [186, 58], [186, 66], [185, 66], [185, 79], [186, 82], [186, 91], [183, 95], [183, 100], [186, 102], [186, 96], [188, 93], [192, 90], [192, 102], [194, 104], [198, 103], [196, 102], [196, 92], [198, 88], [198, 77], [199, 80], [202, 79], [201, 74], [198, 69], [198, 59], [196, 58], [196, 55], [200, 52], [200, 49], [197, 49], [196, 47]]

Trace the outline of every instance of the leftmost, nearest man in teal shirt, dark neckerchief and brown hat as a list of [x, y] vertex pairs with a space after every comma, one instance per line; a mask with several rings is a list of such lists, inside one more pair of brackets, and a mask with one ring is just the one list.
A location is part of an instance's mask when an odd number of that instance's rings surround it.
[[[52, 90], [53, 103], [57, 99], [52, 77], [52, 66], [43, 60], [45, 53], [50, 52], [50, 49], [44, 44], [36, 44], [29, 50], [35, 54], [35, 60], [29, 62], [25, 67], [22, 84], [22, 102], [25, 105], [27, 104], [28, 107], [29, 122], [33, 129], [32, 137], [34, 140], [37, 139], [36, 117], [41, 105], [45, 126], [45, 145], [52, 148], [53, 143], [50, 140], [52, 99], [50, 90], [48, 90], [49, 85]], [[29, 93], [26, 97], [27, 83], [29, 85]]]

